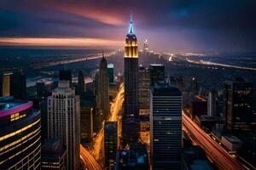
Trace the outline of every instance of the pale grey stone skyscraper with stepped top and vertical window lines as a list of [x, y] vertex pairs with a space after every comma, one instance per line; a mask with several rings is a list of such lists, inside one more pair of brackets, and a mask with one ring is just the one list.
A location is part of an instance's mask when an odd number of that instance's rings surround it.
[[48, 138], [67, 146], [67, 169], [79, 169], [80, 101], [69, 81], [60, 81], [48, 97]]

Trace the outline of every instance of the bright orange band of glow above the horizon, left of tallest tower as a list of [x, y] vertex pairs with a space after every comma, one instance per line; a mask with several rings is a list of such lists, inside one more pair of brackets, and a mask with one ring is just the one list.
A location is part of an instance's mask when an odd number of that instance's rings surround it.
[[119, 47], [120, 44], [123, 44], [123, 41], [105, 40], [100, 38], [0, 37], [0, 45], [9, 46], [110, 48]]

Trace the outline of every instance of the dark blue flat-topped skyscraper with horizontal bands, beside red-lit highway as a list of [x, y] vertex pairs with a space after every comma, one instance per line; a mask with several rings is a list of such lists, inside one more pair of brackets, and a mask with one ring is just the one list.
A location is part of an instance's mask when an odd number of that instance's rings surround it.
[[181, 169], [182, 94], [166, 82], [150, 92], [150, 147], [154, 169]]

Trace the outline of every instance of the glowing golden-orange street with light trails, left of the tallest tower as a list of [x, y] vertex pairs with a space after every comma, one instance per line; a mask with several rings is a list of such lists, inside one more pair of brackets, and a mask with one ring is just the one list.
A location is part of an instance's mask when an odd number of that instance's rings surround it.
[[[121, 83], [119, 86], [118, 94], [116, 94], [115, 99], [113, 99], [113, 102], [111, 103], [111, 112], [108, 121], [117, 121], [119, 111], [121, 111], [124, 101], [124, 91], [124, 83]], [[84, 146], [80, 144], [81, 161], [83, 161], [84, 165], [89, 170], [102, 169], [97, 161], [99, 161], [101, 158], [103, 137], [104, 130], [102, 127], [99, 133], [97, 133], [96, 137], [93, 139], [90, 149], [84, 148]]]

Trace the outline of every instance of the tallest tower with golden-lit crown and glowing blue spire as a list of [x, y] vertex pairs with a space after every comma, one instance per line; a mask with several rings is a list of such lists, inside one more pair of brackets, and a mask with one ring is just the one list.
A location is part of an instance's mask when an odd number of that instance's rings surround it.
[[138, 116], [138, 45], [132, 18], [125, 39], [125, 117]]

